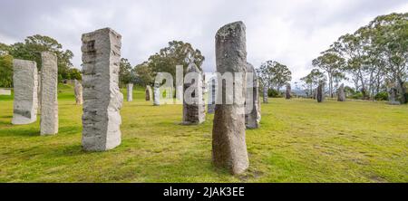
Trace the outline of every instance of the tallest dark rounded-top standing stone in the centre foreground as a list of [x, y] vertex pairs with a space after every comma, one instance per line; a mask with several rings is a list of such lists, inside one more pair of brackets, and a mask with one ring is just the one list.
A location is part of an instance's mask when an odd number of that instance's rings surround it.
[[[232, 174], [241, 174], [249, 166], [245, 141], [245, 94], [247, 70], [246, 27], [242, 22], [227, 24], [216, 35], [217, 72], [241, 72], [242, 78], [235, 80], [233, 104], [217, 102], [212, 129], [212, 160], [217, 168], [227, 168]], [[238, 76], [233, 74], [233, 76]], [[223, 82], [218, 100], [227, 95]], [[239, 89], [240, 88], [240, 89]], [[231, 90], [231, 89], [230, 89]]]

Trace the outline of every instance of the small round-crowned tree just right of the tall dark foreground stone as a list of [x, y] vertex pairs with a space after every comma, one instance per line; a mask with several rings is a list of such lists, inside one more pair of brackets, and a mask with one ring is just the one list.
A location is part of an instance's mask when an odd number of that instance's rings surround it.
[[268, 89], [276, 87], [277, 91], [292, 81], [292, 72], [279, 62], [267, 61], [261, 64], [256, 70], [259, 80], [263, 86], [267, 86]]

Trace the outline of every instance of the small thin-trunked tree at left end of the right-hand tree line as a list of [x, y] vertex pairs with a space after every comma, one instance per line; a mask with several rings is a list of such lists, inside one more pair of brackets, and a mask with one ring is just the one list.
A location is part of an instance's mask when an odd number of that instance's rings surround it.
[[313, 65], [327, 73], [330, 97], [333, 98], [333, 81], [335, 78], [339, 79], [342, 77], [340, 75], [344, 68], [345, 60], [336, 54], [333, 49], [329, 49], [321, 54], [321, 56], [313, 60]]

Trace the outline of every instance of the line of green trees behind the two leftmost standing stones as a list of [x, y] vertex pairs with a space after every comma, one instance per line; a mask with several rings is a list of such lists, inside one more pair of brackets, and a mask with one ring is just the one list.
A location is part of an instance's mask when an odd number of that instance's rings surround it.
[[63, 45], [49, 36], [35, 34], [28, 36], [22, 43], [7, 45], [0, 43], [0, 87], [13, 86], [13, 59], [24, 59], [37, 62], [41, 68], [41, 53], [53, 52], [58, 59], [58, 80], [81, 80], [81, 72], [73, 68], [73, 52], [63, 50]]

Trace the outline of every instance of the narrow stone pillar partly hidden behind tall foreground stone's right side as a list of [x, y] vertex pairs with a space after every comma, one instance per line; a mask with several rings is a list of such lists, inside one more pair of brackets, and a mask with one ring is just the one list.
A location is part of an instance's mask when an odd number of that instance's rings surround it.
[[[252, 79], [248, 76], [252, 75]], [[252, 81], [252, 83], [249, 83]], [[252, 91], [252, 92], [249, 92]], [[259, 82], [257, 81], [257, 74], [254, 66], [250, 63], [247, 65], [247, 96], [245, 105], [245, 125], [247, 129], [259, 128], [260, 116], [260, 102], [259, 102]]]

